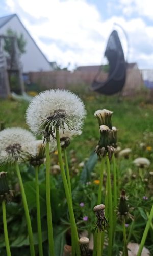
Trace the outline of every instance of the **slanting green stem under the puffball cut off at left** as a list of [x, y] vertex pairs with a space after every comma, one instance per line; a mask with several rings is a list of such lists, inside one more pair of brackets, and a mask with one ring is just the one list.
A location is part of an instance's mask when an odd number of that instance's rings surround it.
[[21, 196], [22, 196], [22, 201], [23, 201], [23, 206], [24, 206], [24, 211], [25, 211], [25, 218], [26, 218], [26, 221], [27, 221], [29, 244], [30, 244], [30, 253], [31, 253], [31, 256], [35, 256], [35, 248], [34, 248], [34, 242], [33, 242], [33, 231], [32, 231], [32, 226], [31, 226], [30, 215], [29, 215], [27, 198], [25, 196], [22, 177], [21, 177], [21, 174], [20, 174], [20, 169], [19, 169], [17, 161], [15, 162], [15, 167], [16, 167], [16, 173], [17, 173], [17, 177], [18, 177], [19, 185], [20, 185], [20, 189], [21, 189]]

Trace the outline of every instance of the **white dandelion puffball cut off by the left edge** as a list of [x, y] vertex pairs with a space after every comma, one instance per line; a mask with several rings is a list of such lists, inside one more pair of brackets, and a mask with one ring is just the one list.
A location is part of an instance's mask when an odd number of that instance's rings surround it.
[[24, 161], [36, 154], [35, 136], [20, 127], [6, 128], [0, 132], [0, 163]]

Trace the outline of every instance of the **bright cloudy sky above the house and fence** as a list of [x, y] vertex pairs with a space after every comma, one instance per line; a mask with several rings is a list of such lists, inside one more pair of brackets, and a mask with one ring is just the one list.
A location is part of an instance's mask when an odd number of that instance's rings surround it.
[[69, 69], [105, 63], [104, 52], [113, 29], [127, 62], [153, 69], [152, 10], [152, 0], [0, 2], [0, 16], [16, 13], [47, 59], [61, 67], [69, 65]]

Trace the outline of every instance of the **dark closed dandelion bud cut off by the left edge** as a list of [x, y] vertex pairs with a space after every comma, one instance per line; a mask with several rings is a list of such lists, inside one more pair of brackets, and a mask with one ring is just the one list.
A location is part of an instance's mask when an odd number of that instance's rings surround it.
[[12, 200], [13, 191], [8, 186], [6, 174], [6, 172], [0, 172], [0, 200], [9, 202]]

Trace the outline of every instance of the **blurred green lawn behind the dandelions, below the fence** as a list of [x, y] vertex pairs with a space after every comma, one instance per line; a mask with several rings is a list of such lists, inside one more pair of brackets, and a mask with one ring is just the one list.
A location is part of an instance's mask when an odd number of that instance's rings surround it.
[[[118, 141], [122, 148], [135, 147], [136, 142], [143, 142], [145, 134], [152, 131], [153, 119], [152, 105], [146, 104], [142, 98], [123, 98], [118, 101], [117, 96], [106, 97], [97, 94], [87, 94], [82, 97], [85, 103], [87, 116], [81, 136], [74, 138], [70, 149], [77, 151], [80, 160], [88, 157], [95, 148], [99, 139], [98, 123], [94, 117], [97, 109], [113, 111], [112, 123], [118, 131]], [[14, 100], [0, 100], [0, 121], [5, 127], [20, 126], [27, 128], [25, 123], [25, 110], [28, 102]], [[150, 144], [148, 144], [150, 146]], [[80, 152], [80, 148], [82, 148]]]

